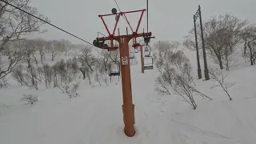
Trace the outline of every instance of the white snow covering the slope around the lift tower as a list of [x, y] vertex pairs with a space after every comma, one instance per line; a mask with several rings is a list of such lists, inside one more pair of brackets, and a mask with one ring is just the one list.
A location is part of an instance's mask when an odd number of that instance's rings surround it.
[[[184, 50], [194, 66], [195, 52]], [[254, 144], [256, 142], [256, 67], [242, 63], [231, 69], [232, 101], [212, 81], [195, 80], [198, 90], [214, 100], [195, 98], [192, 110], [182, 98], [154, 91], [157, 70], [141, 73], [140, 53], [131, 66], [136, 134], [123, 133], [122, 85], [93, 86], [81, 79], [80, 96], [69, 98], [58, 89], [29, 90], [16, 82], [0, 90], [1, 144]], [[62, 56], [62, 58], [65, 58]], [[50, 59], [50, 58], [48, 58]], [[55, 62], [61, 57], [55, 58]], [[50, 61], [49, 61], [50, 62]], [[210, 65], [213, 65], [209, 61]], [[203, 70], [203, 61], [201, 61]], [[203, 76], [203, 73], [202, 73]], [[118, 83], [116, 85], [116, 82]], [[38, 95], [33, 106], [20, 102], [22, 94]]]

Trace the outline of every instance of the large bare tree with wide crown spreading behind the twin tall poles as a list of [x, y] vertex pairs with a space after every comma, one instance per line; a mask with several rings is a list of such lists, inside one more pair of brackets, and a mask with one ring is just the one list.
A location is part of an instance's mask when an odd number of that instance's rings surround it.
[[[210, 18], [203, 23], [202, 30], [207, 54], [214, 58], [214, 62], [217, 62], [221, 69], [224, 68], [223, 63], [226, 65], [226, 70], [236, 63], [234, 53], [241, 44], [240, 35], [246, 24], [247, 21], [242, 21], [228, 13]], [[198, 24], [196, 26], [198, 38], [201, 39], [201, 27]], [[195, 50], [194, 29], [190, 30], [185, 38], [183, 46]], [[199, 49], [202, 47], [201, 45], [202, 41], [198, 40]]]

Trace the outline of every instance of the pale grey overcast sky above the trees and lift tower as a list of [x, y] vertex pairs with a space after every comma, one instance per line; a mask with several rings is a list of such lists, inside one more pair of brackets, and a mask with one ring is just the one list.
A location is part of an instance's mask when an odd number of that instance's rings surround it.
[[[92, 42], [97, 37], [97, 32], [107, 34], [98, 14], [110, 14], [112, 8], [117, 8], [114, 0], [31, 0], [32, 5], [39, 12], [50, 18], [52, 24], [77, 35], [86, 41]], [[235, 16], [248, 19], [256, 23], [255, 0], [149, 0], [149, 30], [156, 40], [168, 40], [182, 42], [193, 24], [193, 14], [202, 7], [202, 18], [206, 20], [217, 14], [232, 12]], [[146, 8], [146, 0], [117, 0], [122, 11], [141, 10]], [[127, 18], [136, 28], [139, 14], [127, 14]], [[126, 22], [118, 27], [126, 29]], [[110, 30], [114, 27], [114, 17], [106, 18]], [[69, 39], [71, 42], [83, 44], [84, 42], [72, 38], [70, 35], [51, 26], [44, 26], [48, 32], [36, 37], [46, 39]], [[144, 15], [142, 28], [146, 30], [146, 14]]]

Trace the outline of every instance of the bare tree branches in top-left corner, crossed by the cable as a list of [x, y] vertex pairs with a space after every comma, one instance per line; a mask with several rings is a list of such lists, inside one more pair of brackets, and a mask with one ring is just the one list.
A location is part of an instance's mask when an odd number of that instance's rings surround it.
[[[9, 0], [8, 2], [49, 22], [48, 18], [39, 14], [35, 7], [30, 6], [30, 0]], [[4, 45], [7, 42], [22, 39], [23, 36], [34, 32], [46, 32], [46, 30], [40, 29], [43, 24], [45, 24], [45, 22], [11, 7], [5, 2], [0, 2], [0, 38], [2, 40], [0, 51], [4, 49]]]

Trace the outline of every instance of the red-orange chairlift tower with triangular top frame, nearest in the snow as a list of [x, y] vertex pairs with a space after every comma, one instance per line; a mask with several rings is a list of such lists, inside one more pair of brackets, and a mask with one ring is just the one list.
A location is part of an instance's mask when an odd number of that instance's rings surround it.
[[[122, 105], [122, 110], [123, 110], [123, 121], [125, 124], [124, 131], [125, 134], [128, 137], [133, 137], [135, 134], [134, 130], [134, 104], [132, 100], [132, 91], [131, 91], [131, 78], [130, 78], [130, 50], [129, 50], [129, 45], [128, 43], [130, 42], [130, 39], [134, 39], [136, 42], [136, 38], [139, 37], [150, 37], [150, 33], [140, 33], [138, 34], [138, 28], [142, 22], [142, 16], [146, 9], [143, 10], [133, 10], [133, 11], [126, 11], [126, 12], [119, 12], [117, 13], [116, 9], [112, 9], [112, 14], [104, 14], [104, 15], [98, 15], [99, 18], [102, 19], [102, 22], [106, 28], [107, 33], [109, 34], [108, 37], [102, 37], [102, 38], [96, 38], [94, 40], [94, 46], [97, 46], [102, 49], [106, 50], [115, 50], [118, 49], [118, 47], [115, 47], [113, 45], [113, 40], [118, 41], [119, 43], [119, 53], [120, 53], [120, 67], [121, 67], [121, 75], [122, 75], [122, 98], [123, 98], [123, 105]], [[132, 27], [130, 26], [130, 23], [128, 22], [130, 29], [132, 30], [132, 34], [126, 34], [126, 35], [120, 35], [120, 32], [118, 31], [118, 36], [115, 36], [115, 30], [117, 29], [118, 22], [121, 16], [126, 18], [126, 14], [130, 13], [141, 13], [141, 16], [138, 21], [138, 26], [136, 30], [133, 30]], [[106, 26], [106, 22], [104, 21], [104, 17], [106, 16], [114, 16], [116, 19], [116, 23], [114, 25], [114, 30], [112, 33], [110, 33], [110, 30]], [[126, 18], [127, 19], [127, 18]], [[126, 29], [127, 31], [127, 29]], [[110, 46], [104, 46], [103, 43], [105, 41], [110, 41]], [[98, 43], [102, 45], [98, 45]]]

